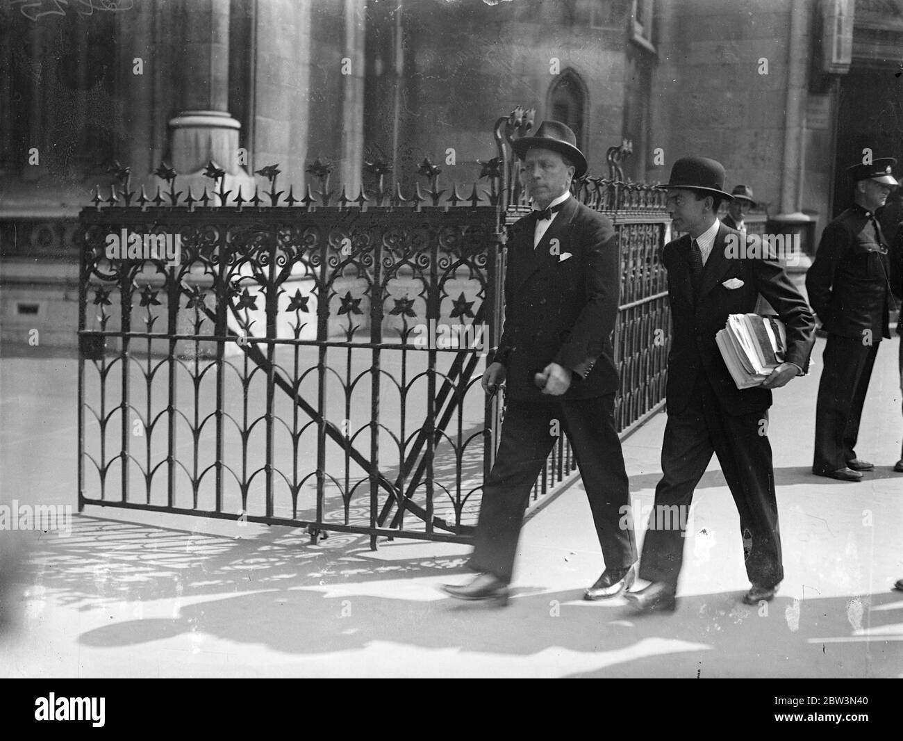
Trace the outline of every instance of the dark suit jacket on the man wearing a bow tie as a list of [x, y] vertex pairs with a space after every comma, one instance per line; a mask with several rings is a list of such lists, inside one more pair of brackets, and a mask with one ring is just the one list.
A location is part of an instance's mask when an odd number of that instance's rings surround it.
[[531, 217], [517, 220], [507, 243], [505, 324], [493, 358], [505, 365], [507, 397], [549, 399], [534, 374], [550, 362], [573, 371], [563, 398], [613, 393], [620, 270], [611, 221], [571, 197], [535, 249], [534, 231]]

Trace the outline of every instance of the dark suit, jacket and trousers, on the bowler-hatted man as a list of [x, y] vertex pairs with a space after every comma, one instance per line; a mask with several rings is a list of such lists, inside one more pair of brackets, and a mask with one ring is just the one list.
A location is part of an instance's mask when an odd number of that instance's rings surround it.
[[[775, 586], [783, 578], [767, 434], [771, 391], [737, 388], [721, 359], [715, 334], [724, 328], [729, 314], [752, 313], [761, 294], [787, 326], [784, 360], [805, 371], [815, 343], [815, 320], [777, 261], [728, 257], [729, 234], [740, 232], [722, 223], [702, 268], [698, 291], [692, 279], [690, 236], [669, 242], [663, 251], [673, 324], [666, 388], [668, 418], [662, 446], [663, 476], [656, 487], [656, 507], [643, 544], [639, 576], [665, 582], [673, 589], [683, 560], [685, 519], [675, 521], [670, 512], [689, 510], [712, 453], [718, 456], [740, 513], [749, 581]], [[724, 286], [731, 278], [742, 285]], [[736, 281], [730, 282], [736, 285]], [[657, 515], [663, 507], [669, 508], [668, 518]]]

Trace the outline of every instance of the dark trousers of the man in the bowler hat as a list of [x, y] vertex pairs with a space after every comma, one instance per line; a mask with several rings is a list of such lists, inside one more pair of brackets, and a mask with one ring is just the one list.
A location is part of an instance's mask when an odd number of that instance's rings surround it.
[[662, 445], [663, 474], [643, 541], [639, 577], [665, 582], [676, 590], [693, 493], [714, 453], [740, 513], [749, 581], [775, 586], [784, 578], [767, 433], [768, 410], [726, 414], [709, 381], [702, 373], [697, 376], [687, 407], [668, 415]]

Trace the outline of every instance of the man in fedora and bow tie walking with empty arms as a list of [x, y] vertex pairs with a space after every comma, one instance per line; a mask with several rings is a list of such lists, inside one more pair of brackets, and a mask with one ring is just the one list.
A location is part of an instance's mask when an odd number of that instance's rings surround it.
[[514, 150], [535, 211], [512, 228], [505, 324], [482, 380], [488, 393], [505, 383], [505, 419], [468, 563], [478, 575], [443, 589], [460, 599], [507, 602], [530, 489], [560, 429], [571, 441], [605, 559], [584, 596], [617, 596], [633, 583], [637, 560], [633, 530], [621, 527], [631, 521], [629, 487], [613, 417], [618, 240], [610, 220], [570, 193], [586, 159], [569, 127], [545, 121]]

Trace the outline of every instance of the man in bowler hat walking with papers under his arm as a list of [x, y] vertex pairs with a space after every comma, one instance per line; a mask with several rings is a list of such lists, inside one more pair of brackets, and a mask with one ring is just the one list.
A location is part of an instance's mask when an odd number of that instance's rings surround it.
[[[684, 553], [686, 517], [696, 484], [712, 453], [740, 513], [748, 604], [771, 599], [784, 576], [774, 471], [768, 443], [771, 389], [805, 372], [815, 342], [815, 319], [776, 259], [731, 250], [740, 232], [715, 214], [724, 168], [714, 160], [684, 157], [671, 171], [667, 210], [675, 230], [663, 262], [673, 335], [668, 355], [667, 423], [662, 479], [640, 557], [644, 589], [628, 594], [639, 611], [673, 611]], [[730, 238], [730, 239], [729, 239]], [[742, 241], [739, 242], [743, 244]], [[787, 326], [786, 362], [760, 387], [740, 390], [721, 358], [715, 334], [730, 314], [750, 314], [759, 294]]]

